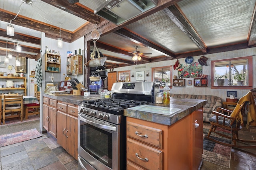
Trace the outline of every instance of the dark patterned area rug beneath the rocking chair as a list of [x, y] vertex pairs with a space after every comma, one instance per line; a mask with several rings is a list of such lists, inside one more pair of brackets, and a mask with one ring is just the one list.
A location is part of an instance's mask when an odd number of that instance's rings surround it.
[[[206, 139], [210, 129], [210, 124], [205, 124], [203, 126], [203, 154], [202, 159], [230, 168], [230, 159], [231, 159], [231, 147], [215, 143], [209, 139]], [[222, 129], [216, 129], [222, 131]], [[211, 134], [212, 138], [215, 138], [219, 141], [225, 141], [226, 143], [231, 143], [231, 140], [224, 137], [220, 137], [215, 133]]]

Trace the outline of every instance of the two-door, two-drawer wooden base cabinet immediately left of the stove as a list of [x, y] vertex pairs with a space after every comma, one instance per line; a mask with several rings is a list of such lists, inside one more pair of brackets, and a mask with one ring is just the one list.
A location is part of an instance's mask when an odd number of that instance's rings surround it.
[[78, 107], [58, 102], [57, 142], [74, 158], [78, 155]]

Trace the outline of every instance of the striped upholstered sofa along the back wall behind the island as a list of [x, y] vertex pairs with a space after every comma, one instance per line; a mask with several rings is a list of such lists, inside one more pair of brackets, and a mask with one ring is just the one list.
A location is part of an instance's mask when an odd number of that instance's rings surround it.
[[213, 116], [212, 111], [216, 111], [218, 107], [222, 107], [222, 99], [211, 95], [194, 95], [194, 94], [170, 94], [172, 98], [188, 98], [207, 100], [207, 104], [203, 106], [203, 121], [210, 122]]

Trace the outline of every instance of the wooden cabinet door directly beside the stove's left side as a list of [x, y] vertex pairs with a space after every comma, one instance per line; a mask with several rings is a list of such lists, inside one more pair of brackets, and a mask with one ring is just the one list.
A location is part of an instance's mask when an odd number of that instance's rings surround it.
[[78, 118], [67, 114], [66, 150], [77, 160], [78, 155]]

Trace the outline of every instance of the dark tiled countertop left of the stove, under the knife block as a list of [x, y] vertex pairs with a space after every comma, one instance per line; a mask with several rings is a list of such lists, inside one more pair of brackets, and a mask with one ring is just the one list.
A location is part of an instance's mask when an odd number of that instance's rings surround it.
[[100, 95], [99, 94], [90, 94], [90, 96], [75, 96], [75, 95], [52, 96], [50, 94], [44, 94], [44, 97], [78, 105], [78, 103], [82, 102], [83, 100], [99, 99]]

